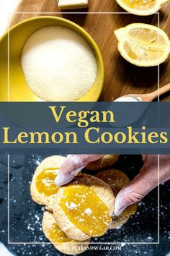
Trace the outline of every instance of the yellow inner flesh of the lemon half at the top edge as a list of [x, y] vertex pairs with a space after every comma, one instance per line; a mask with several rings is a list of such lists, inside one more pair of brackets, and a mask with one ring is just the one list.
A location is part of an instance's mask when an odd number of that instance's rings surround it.
[[127, 7], [138, 10], [148, 10], [156, 5], [156, 0], [122, 0]]

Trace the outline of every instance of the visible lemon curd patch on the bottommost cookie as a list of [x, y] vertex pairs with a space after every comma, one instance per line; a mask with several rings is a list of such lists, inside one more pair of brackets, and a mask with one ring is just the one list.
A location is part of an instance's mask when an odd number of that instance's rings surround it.
[[49, 232], [49, 238], [51, 242], [57, 243], [57, 242], [76, 242], [76, 240], [73, 240], [69, 238], [56, 223], [53, 223], [52, 229], [50, 229]]

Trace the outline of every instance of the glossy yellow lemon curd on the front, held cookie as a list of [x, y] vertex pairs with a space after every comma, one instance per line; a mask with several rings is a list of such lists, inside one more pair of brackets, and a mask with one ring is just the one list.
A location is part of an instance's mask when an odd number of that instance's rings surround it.
[[66, 187], [60, 206], [71, 223], [89, 236], [102, 236], [112, 221], [107, 205], [85, 185]]

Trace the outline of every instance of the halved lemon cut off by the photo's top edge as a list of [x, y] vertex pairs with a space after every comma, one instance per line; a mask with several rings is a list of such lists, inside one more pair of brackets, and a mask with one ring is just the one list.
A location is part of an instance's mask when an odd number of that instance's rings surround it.
[[136, 15], [151, 15], [161, 9], [162, 4], [169, 0], [116, 0], [127, 12]]

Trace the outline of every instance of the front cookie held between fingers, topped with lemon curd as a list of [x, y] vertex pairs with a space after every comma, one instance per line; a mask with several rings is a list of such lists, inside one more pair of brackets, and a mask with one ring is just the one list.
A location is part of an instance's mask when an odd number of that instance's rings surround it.
[[112, 222], [115, 197], [102, 180], [80, 174], [55, 197], [55, 221], [67, 236], [83, 241], [102, 236]]

